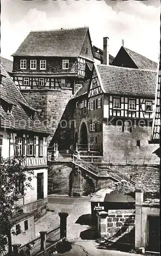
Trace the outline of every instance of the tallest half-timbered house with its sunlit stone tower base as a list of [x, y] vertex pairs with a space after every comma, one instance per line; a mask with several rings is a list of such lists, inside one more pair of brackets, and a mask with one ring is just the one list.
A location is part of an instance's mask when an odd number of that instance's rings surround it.
[[93, 62], [88, 27], [31, 31], [13, 54], [13, 79], [54, 133], [72, 94], [92, 73]]

